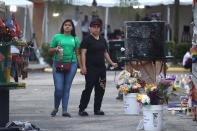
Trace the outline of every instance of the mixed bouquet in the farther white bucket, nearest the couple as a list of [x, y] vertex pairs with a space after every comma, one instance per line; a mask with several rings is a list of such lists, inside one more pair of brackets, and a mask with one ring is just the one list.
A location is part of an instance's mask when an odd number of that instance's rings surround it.
[[125, 95], [128, 93], [139, 93], [146, 85], [141, 78], [140, 71], [133, 69], [131, 72], [124, 70], [119, 77], [118, 90]]

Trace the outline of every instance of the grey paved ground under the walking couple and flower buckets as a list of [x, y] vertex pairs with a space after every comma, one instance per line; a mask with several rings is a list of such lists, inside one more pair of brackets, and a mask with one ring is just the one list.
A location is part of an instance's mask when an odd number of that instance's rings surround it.
[[[178, 76], [183, 73], [176, 73]], [[140, 115], [125, 115], [123, 102], [116, 100], [117, 90], [114, 83], [115, 72], [107, 72], [107, 88], [102, 110], [105, 116], [93, 115], [93, 95], [87, 108], [88, 117], [78, 116], [78, 105], [84, 88], [84, 78], [77, 74], [70, 93], [69, 112], [72, 118], [50, 117], [53, 108], [53, 79], [47, 72], [30, 72], [26, 89], [10, 91], [10, 121], [30, 121], [47, 131], [136, 131]], [[165, 107], [166, 108], [166, 107]], [[197, 123], [191, 116], [172, 115], [164, 110], [164, 131], [196, 131]]]

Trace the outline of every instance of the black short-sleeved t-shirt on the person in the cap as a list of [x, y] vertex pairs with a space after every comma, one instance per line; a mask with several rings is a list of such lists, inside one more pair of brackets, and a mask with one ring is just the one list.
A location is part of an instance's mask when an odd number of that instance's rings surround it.
[[87, 49], [86, 66], [105, 67], [104, 52], [107, 50], [107, 43], [104, 37], [100, 36], [96, 40], [92, 35], [86, 37], [80, 46], [81, 49]]

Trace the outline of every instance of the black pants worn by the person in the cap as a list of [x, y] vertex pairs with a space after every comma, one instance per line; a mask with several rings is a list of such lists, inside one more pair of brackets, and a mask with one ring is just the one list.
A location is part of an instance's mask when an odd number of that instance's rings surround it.
[[85, 89], [82, 92], [79, 110], [84, 111], [90, 101], [92, 89], [94, 88], [94, 112], [99, 111], [101, 103], [105, 93], [106, 84], [106, 69], [105, 68], [87, 68], [87, 74], [85, 75]]

